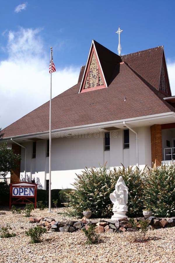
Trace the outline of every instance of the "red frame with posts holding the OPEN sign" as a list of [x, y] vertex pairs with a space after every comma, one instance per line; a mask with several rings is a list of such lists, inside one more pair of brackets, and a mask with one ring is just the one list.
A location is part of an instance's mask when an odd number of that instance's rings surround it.
[[[13, 204], [29, 204], [32, 203], [35, 205], [35, 209], [36, 209], [36, 194], [37, 194], [37, 184], [35, 183], [28, 183], [28, 182], [18, 182], [18, 183], [11, 183], [10, 185], [10, 202], [9, 202], [9, 210], [11, 210], [11, 205]], [[26, 192], [28, 188], [31, 188], [31, 192], [34, 192], [34, 195], [32, 196], [28, 196], [28, 195], [13, 195], [13, 188], [22, 188], [22, 191], [19, 192]], [[12, 198], [18, 198], [17, 200], [12, 201]], [[29, 200], [28, 198], [33, 198], [35, 199], [35, 202], [32, 202], [31, 200]], [[20, 201], [20, 202], [19, 202]]]

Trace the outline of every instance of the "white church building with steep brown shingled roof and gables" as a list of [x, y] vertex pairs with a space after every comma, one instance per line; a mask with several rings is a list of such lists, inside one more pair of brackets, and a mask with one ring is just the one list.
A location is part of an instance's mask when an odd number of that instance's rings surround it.
[[[2, 130], [21, 153], [10, 183], [48, 189], [49, 101]], [[52, 99], [51, 188], [87, 167], [158, 166], [175, 158], [175, 96], [163, 46], [118, 56], [92, 40], [78, 83]]]

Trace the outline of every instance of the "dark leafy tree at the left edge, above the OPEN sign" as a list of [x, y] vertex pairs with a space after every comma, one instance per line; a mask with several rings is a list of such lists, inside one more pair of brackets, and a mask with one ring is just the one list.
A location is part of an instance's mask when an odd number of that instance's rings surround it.
[[15, 154], [12, 149], [7, 148], [7, 143], [2, 141], [3, 135], [0, 128], [0, 177], [5, 177], [8, 172], [17, 168], [17, 161], [21, 159], [20, 154]]

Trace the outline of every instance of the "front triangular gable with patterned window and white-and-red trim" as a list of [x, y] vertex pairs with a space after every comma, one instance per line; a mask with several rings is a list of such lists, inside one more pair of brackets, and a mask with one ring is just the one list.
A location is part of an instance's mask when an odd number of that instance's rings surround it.
[[97, 50], [95, 48], [94, 41], [92, 40], [79, 93], [92, 91], [95, 89], [103, 89], [106, 87], [107, 84], [104, 77], [104, 73], [101, 68], [101, 64], [99, 61]]

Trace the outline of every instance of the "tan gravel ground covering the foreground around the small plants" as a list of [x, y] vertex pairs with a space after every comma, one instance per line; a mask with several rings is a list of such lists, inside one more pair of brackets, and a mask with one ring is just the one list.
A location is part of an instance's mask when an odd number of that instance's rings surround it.
[[[57, 214], [57, 211], [65, 212], [65, 209], [53, 209], [53, 213], [36, 209], [31, 215], [61, 220], [63, 214]], [[4, 208], [0, 212], [6, 213], [0, 215], [0, 227], [8, 223], [12, 231], [17, 234], [12, 238], [0, 238], [1, 263], [174, 263], [175, 261], [175, 227], [148, 231], [148, 240], [144, 243], [129, 241], [129, 236], [132, 234], [129, 232], [101, 234], [101, 241], [97, 245], [86, 245], [83, 233], [47, 232], [43, 234], [41, 243], [31, 244], [30, 238], [24, 232], [36, 224], [29, 224], [24, 214], [12, 214]]]

